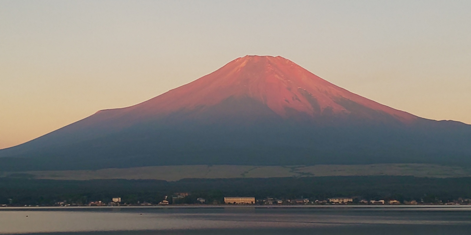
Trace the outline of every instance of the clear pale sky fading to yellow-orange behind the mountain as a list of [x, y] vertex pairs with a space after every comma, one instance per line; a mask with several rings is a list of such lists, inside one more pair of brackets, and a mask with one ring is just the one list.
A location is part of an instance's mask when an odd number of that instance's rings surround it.
[[0, 149], [244, 55], [471, 124], [469, 0], [0, 0]]

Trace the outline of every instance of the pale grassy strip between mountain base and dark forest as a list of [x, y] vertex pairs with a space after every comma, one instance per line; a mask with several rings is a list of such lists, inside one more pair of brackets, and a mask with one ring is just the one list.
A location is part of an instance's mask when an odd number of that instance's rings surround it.
[[174, 165], [100, 170], [0, 172], [0, 177], [49, 180], [167, 180], [279, 178], [319, 176], [470, 177], [471, 168], [436, 164], [369, 164], [313, 166]]

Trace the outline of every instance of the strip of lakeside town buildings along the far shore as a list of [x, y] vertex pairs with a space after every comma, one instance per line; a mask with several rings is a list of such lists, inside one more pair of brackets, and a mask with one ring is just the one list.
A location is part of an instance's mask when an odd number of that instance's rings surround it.
[[360, 197], [333, 197], [325, 200], [310, 199], [310, 198], [297, 198], [297, 199], [278, 199], [278, 198], [263, 198], [256, 199], [255, 197], [224, 197], [224, 200], [207, 201], [205, 198], [198, 197], [196, 200], [189, 202], [189, 193], [176, 193], [172, 196], [165, 196], [162, 201], [157, 204], [149, 202], [127, 203], [121, 197], [110, 198], [106, 201], [92, 201], [87, 204], [69, 203], [67, 200], [56, 202], [55, 204], [41, 204], [41, 205], [18, 205], [1, 204], [1, 207], [18, 207], [18, 206], [165, 206], [165, 205], [471, 205], [471, 199], [459, 198], [450, 202], [437, 201], [435, 203], [421, 201], [399, 201], [396, 199], [381, 199], [381, 200], [365, 200]]

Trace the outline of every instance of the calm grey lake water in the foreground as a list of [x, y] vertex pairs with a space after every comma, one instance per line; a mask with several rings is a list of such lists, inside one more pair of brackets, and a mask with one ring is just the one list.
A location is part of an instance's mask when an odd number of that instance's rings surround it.
[[470, 207], [1, 209], [0, 233], [469, 235]]

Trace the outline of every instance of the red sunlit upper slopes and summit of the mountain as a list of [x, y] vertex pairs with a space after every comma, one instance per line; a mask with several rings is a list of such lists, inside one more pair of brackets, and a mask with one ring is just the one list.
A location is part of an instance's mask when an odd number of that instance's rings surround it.
[[[225, 101], [226, 107], [219, 107]], [[253, 104], [257, 102], [273, 113]], [[352, 107], [352, 104], [363, 110]], [[103, 121], [126, 117], [125, 125], [131, 125], [143, 119], [158, 119], [182, 110], [187, 112], [180, 118], [186, 119], [250, 118], [251, 115], [257, 119], [270, 114], [303, 121], [352, 114], [365, 121], [378, 118], [378, 114], [382, 114], [381, 118], [389, 115], [390, 119], [405, 124], [417, 119], [412, 114], [335, 86], [281, 56], [257, 55], [237, 58], [217, 71], [146, 102], [128, 108], [101, 110], [95, 116]], [[211, 117], [206, 112], [210, 112]], [[97, 121], [90, 120], [91, 123]]]

